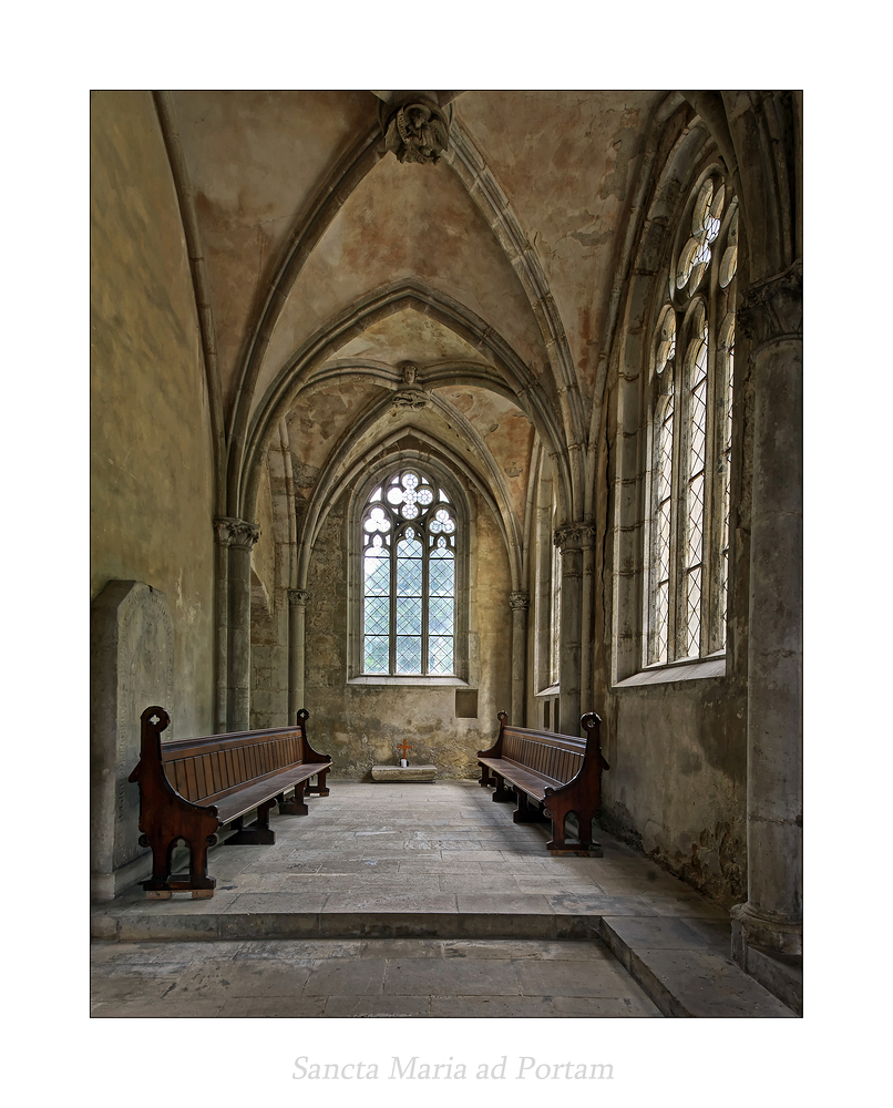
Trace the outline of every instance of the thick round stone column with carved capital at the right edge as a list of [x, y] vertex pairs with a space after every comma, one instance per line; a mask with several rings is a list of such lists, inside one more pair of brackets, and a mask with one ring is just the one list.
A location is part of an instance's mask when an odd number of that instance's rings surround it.
[[748, 901], [732, 954], [802, 953], [802, 267], [752, 286], [738, 311], [755, 375], [748, 632]]

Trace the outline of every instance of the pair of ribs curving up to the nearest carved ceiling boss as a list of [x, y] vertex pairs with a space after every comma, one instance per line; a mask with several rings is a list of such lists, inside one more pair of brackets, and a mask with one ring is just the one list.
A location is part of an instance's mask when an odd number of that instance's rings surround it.
[[[464, 133], [459, 121], [451, 132], [451, 148], [444, 161], [451, 166], [493, 232], [500, 247], [524, 289], [536, 327], [543, 338], [548, 367], [555, 384], [562, 414], [562, 439], [567, 443], [571, 464], [567, 466], [567, 513], [582, 511], [583, 450], [585, 420], [583, 401], [576, 382], [573, 355], [555, 300], [548, 287], [536, 249], [524, 234], [507, 197], [500, 188], [483, 155]], [[266, 300], [258, 307], [249, 325], [243, 369], [228, 421], [229, 456], [227, 465], [227, 501], [230, 515], [238, 516], [243, 503], [245, 464], [243, 453], [250, 449], [249, 423], [254, 391], [279, 314], [305, 263], [319, 243], [331, 220], [351, 193], [386, 154], [380, 127], [368, 131], [322, 182], [316, 198], [298, 219], [289, 237], [283, 261], [270, 283]]]

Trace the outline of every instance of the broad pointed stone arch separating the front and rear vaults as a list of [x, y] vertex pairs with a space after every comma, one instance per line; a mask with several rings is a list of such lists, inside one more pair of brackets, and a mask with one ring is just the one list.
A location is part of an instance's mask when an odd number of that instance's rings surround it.
[[[341, 347], [362, 334], [366, 328], [410, 305], [453, 330], [495, 368], [502, 388], [533, 423], [536, 433], [553, 458], [558, 476], [562, 511], [571, 510], [573, 470], [568, 462], [563, 428], [555, 418], [554, 404], [542, 383], [530, 371], [515, 350], [485, 320], [464, 305], [439, 290], [415, 280], [387, 285], [357, 301], [336, 316], [326, 327], [304, 343], [301, 349], [279, 370], [248, 429], [239, 476], [238, 503], [250, 514], [257, 496], [260, 465], [278, 421], [295, 407], [298, 394], [318, 379], [326, 362]], [[493, 388], [494, 380], [479, 370], [475, 383]], [[377, 373], [378, 376], [378, 373]], [[438, 383], [448, 383], [438, 375]], [[397, 381], [397, 375], [394, 375]], [[423, 382], [427, 383], [427, 382]]]

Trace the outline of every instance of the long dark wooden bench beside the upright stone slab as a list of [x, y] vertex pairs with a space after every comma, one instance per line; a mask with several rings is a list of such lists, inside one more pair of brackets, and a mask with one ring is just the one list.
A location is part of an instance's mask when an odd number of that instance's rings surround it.
[[[140, 845], [152, 848], [152, 876], [142, 882], [147, 896], [167, 900], [177, 891], [213, 896], [217, 882], [208, 876], [207, 852], [224, 824], [233, 823], [235, 832], [227, 844], [274, 843], [271, 808], [278, 803], [284, 814], [306, 815], [305, 793], [328, 797], [331, 758], [307, 741], [308, 717], [301, 708], [297, 727], [162, 742], [171, 717], [164, 708], [146, 708], [140, 761], [129, 780], [140, 786]], [[294, 797], [286, 800], [290, 789]], [[243, 818], [255, 809], [257, 819], [244, 827]], [[172, 876], [181, 839], [189, 849], [189, 872]]]

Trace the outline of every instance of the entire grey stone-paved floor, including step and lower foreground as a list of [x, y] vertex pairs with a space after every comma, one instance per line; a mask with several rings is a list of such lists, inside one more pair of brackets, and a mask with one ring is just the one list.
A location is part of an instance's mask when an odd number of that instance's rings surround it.
[[602, 834], [553, 858], [476, 782], [331, 782], [271, 847], [218, 847], [211, 900], [92, 912], [96, 1016], [792, 1016], [725, 912]]

